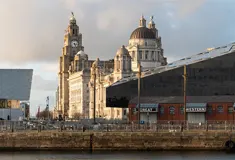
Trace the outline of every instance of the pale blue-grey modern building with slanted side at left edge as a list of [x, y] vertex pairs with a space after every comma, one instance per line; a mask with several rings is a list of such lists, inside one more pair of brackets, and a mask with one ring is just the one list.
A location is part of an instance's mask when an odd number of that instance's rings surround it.
[[[29, 114], [32, 69], [0, 69], [0, 119], [20, 120]], [[24, 102], [22, 102], [24, 101]]]

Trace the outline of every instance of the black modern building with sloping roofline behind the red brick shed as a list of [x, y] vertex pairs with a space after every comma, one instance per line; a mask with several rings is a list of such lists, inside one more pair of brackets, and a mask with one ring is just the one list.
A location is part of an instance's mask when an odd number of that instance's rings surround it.
[[[235, 94], [235, 43], [217, 47], [145, 71], [141, 97], [183, 96], [184, 65], [187, 67], [187, 96], [233, 96]], [[137, 77], [126, 77], [106, 89], [107, 107], [128, 107], [137, 97]]]

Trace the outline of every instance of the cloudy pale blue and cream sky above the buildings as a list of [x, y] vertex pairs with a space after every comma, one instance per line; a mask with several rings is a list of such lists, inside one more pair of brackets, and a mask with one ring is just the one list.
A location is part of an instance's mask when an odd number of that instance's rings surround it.
[[234, 0], [0, 0], [0, 68], [34, 69], [31, 115], [55, 104], [71, 12], [89, 59], [112, 59], [143, 14], [154, 16], [168, 62], [235, 41]]

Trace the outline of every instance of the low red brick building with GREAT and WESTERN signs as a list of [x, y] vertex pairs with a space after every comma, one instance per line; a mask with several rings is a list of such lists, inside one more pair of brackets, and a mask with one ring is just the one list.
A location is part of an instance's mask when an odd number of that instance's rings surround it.
[[[186, 103], [189, 123], [234, 121], [234, 96], [188, 96]], [[138, 121], [138, 100], [128, 105], [129, 120]], [[140, 119], [143, 123], [184, 121], [184, 99], [182, 96], [141, 97]]]

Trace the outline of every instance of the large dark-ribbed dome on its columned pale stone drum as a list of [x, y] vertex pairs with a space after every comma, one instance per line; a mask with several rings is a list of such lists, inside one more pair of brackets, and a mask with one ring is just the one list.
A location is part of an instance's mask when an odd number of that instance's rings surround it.
[[148, 27], [146, 27], [145, 18], [143, 16], [140, 18], [139, 27], [131, 33], [127, 49], [132, 58], [134, 72], [138, 71], [138, 63], [143, 70], [167, 64], [167, 59], [163, 54], [161, 37], [158, 36], [153, 16], [150, 18]]

